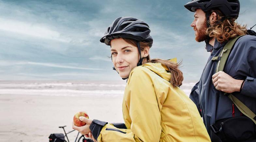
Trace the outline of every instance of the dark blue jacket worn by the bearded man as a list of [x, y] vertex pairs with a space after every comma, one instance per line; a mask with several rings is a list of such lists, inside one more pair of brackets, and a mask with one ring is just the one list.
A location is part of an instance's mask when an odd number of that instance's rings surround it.
[[[215, 74], [217, 61], [211, 59], [219, 55], [225, 44], [220, 44], [215, 40], [212, 47], [206, 42], [206, 50], [212, 52], [200, 81], [193, 87], [189, 96], [198, 110], [201, 111], [209, 135], [211, 124], [219, 119], [233, 116], [232, 101], [223, 92], [216, 90], [212, 83], [212, 75]], [[242, 91], [232, 94], [256, 113], [256, 36], [246, 35], [237, 40], [227, 60], [224, 72], [234, 79], [245, 80]], [[234, 116], [240, 115], [241, 112], [234, 105]]]

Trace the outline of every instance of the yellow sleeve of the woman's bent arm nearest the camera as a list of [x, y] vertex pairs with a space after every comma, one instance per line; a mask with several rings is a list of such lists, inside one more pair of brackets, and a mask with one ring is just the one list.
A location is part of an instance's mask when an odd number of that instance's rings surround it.
[[106, 124], [97, 138], [98, 142], [153, 142], [160, 139], [161, 115], [151, 78], [143, 70], [132, 72], [129, 78], [124, 97], [131, 126], [119, 129], [112, 124]]

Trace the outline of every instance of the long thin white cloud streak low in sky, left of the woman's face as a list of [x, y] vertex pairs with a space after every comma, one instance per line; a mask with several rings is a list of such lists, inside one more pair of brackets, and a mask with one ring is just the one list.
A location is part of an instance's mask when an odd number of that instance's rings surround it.
[[41, 65], [48, 67], [57, 67], [57, 68], [69, 68], [69, 69], [82, 69], [82, 70], [103, 70], [100, 68], [84, 68], [84, 67], [76, 67], [76, 66], [68, 66], [68, 65], [60, 65], [54, 63], [37, 63], [37, 62], [13, 62], [13, 61], [0, 61], [0, 66], [10, 66], [10, 65]]

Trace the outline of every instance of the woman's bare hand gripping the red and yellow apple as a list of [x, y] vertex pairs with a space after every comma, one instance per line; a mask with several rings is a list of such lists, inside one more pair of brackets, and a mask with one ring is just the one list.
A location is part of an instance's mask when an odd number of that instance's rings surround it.
[[74, 124], [74, 122], [72, 122], [72, 128], [77, 130], [77, 131], [79, 131], [82, 135], [87, 135], [88, 136], [89, 132], [91, 132], [89, 127], [90, 127], [90, 125], [92, 123], [92, 120], [87, 119], [86, 117], [83, 117], [83, 116], [80, 116], [79, 120], [85, 122], [86, 125], [84, 125], [84, 126], [76, 126]]

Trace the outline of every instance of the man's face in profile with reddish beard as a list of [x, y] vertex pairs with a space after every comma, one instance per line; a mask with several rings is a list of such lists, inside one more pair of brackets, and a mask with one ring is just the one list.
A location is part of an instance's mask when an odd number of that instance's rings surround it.
[[194, 21], [191, 23], [191, 27], [193, 27], [195, 31], [195, 40], [197, 42], [201, 42], [206, 40], [206, 17], [205, 13], [203, 12], [202, 9], [196, 9], [196, 12], [194, 14]]

